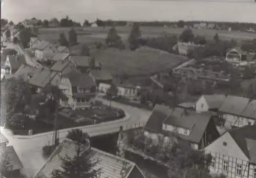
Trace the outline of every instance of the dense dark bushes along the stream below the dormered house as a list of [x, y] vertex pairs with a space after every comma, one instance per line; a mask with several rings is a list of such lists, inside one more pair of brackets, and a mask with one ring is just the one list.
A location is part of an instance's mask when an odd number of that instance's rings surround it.
[[168, 168], [169, 178], [212, 178], [208, 169], [212, 160], [211, 154], [194, 150], [187, 143], [177, 142], [177, 137], [175, 134], [170, 135], [169, 142], [164, 143], [164, 138], [159, 136], [158, 142], [155, 142], [143, 133], [130, 131], [127, 134], [127, 144], [144, 150], [147, 155], [164, 163]]

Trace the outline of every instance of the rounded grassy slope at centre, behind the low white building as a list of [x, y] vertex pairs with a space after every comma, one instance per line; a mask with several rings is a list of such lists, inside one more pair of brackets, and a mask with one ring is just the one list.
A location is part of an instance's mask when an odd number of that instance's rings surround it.
[[169, 72], [188, 60], [183, 56], [145, 47], [137, 51], [106, 49], [93, 55], [104, 69], [110, 70], [114, 75], [126, 74], [129, 76]]

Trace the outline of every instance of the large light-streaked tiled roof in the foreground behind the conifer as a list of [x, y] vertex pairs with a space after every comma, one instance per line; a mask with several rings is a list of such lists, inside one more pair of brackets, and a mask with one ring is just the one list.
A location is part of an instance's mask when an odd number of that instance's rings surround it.
[[[46, 164], [36, 173], [34, 178], [51, 178], [53, 170], [63, 170], [61, 167], [61, 158], [66, 155], [71, 159], [74, 158], [76, 155], [76, 148], [77, 145], [75, 141], [65, 139], [56, 148], [51, 157], [47, 160]], [[94, 169], [101, 168], [102, 173], [99, 178], [126, 178], [130, 177], [130, 174], [135, 168], [138, 169], [135, 163], [96, 148], [91, 148], [90, 158], [94, 161], [99, 160], [99, 163], [94, 167]], [[140, 172], [140, 175], [137, 174], [133, 177], [144, 178], [144, 175]]]

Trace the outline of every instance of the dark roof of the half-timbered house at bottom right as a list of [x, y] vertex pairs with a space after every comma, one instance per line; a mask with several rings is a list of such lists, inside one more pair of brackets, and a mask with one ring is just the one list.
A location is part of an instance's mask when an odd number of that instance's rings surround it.
[[256, 164], [256, 125], [247, 125], [228, 130], [231, 137], [236, 141], [248, 159]]

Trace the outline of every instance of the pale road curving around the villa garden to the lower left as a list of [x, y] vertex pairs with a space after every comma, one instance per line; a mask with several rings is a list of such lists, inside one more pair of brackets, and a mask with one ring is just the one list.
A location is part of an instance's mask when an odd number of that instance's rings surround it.
[[[103, 99], [99, 100], [103, 101], [104, 104], [109, 104], [109, 101]], [[131, 116], [131, 119], [127, 122], [127, 124], [145, 122], [151, 114], [151, 112], [148, 110], [143, 110], [115, 102], [112, 102], [112, 106], [125, 110], [125, 112]], [[118, 130], [119, 126], [121, 125], [124, 126], [123, 123], [108, 124], [108, 126], [99, 126], [97, 129], [89, 128], [87, 132], [90, 136], [93, 136], [96, 132], [103, 133], [108, 130]], [[39, 136], [30, 139], [18, 139], [13, 137], [12, 133], [8, 130], [2, 130], [2, 132], [9, 140], [9, 145], [13, 145], [20, 160], [22, 161], [24, 165], [23, 173], [30, 178], [36, 173], [36, 171], [41, 168], [42, 165], [44, 165], [46, 160], [42, 157], [41, 149], [42, 146], [45, 146], [48, 144], [48, 142], [52, 141], [52, 135]], [[59, 135], [60, 141], [65, 138], [66, 135], [67, 131], [61, 132]]]

